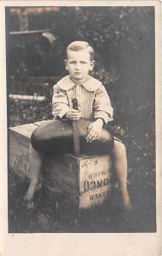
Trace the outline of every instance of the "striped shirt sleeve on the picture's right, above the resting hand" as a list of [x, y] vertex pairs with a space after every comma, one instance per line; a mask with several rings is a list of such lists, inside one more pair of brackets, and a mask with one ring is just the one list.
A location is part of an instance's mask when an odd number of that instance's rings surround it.
[[113, 108], [103, 85], [95, 92], [94, 118], [103, 119], [105, 124], [113, 120]]

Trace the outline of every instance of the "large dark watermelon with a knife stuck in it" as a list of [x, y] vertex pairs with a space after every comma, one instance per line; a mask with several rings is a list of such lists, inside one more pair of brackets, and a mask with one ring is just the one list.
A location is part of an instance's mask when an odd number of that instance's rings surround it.
[[[101, 137], [87, 143], [87, 129], [91, 121], [79, 119], [78, 134], [80, 140], [80, 154], [108, 154], [113, 148], [114, 138], [107, 126], [101, 131]], [[32, 147], [41, 154], [74, 154], [73, 130], [71, 120], [53, 119], [40, 125], [32, 133]]]

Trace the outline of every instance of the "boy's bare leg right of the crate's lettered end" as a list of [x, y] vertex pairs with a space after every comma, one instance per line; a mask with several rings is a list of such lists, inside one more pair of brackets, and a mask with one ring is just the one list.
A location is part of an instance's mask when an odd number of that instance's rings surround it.
[[127, 156], [126, 148], [123, 143], [120, 143], [119, 141], [116, 140], [114, 141], [113, 155], [114, 167], [117, 172], [119, 188], [122, 192], [124, 208], [126, 210], [131, 210], [132, 204], [127, 189]]

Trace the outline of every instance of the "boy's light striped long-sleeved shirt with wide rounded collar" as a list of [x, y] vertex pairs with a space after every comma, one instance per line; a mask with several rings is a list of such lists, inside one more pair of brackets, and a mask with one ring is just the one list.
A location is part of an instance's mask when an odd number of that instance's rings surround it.
[[72, 99], [78, 100], [81, 118], [95, 120], [101, 118], [107, 124], [113, 120], [113, 108], [105, 87], [97, 79], [88, 76], [84, 84], [74, 84], [66, 76], [54, 85], [52, 98], [54, 117], [63, 118], [72, 108]]

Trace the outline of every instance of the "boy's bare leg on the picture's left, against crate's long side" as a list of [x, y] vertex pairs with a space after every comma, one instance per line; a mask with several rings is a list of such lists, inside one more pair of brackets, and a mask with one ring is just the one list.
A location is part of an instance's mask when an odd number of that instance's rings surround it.
[[27, 201], [32, 201], [34, 193], [37, 189], [40, 172], [41, 172], [41, 156], [30, 144], [29, 148], [29, 162], [30, 162], [30, 173], [31, 173], [31, 183], [27, 189], [25, 198]]

